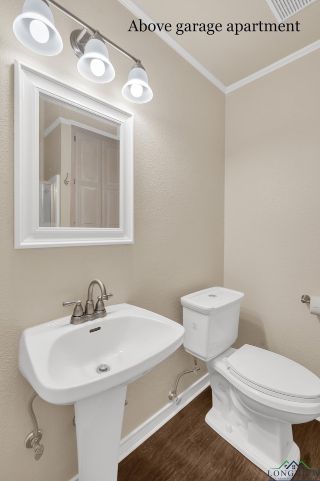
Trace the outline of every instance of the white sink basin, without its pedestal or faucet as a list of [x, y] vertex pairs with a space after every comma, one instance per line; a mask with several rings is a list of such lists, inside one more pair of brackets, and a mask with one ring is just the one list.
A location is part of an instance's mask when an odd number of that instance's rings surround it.
[[[22, 375], [53, 404], [71, 404], [132, 382], [172, 354], [184, 336], [180, 324], [129, 304], [108, 306], [104, 318], [83, 324], [69, 320], [31, 327], [20, 339]], [[101, 364], [110, 369], [97, 372]]]

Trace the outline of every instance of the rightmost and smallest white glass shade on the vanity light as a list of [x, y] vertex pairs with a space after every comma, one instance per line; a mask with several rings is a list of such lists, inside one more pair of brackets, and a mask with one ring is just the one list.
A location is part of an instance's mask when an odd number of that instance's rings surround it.
[[[137, 86], [142, 87], [142, 92]], [[137, 97], [136, 95], [139, 93], [139, 90], [141, 95]], [[136, 104], [144, 104], [152, 99], [153, 94], [148, 85], [148, 77], [142, 67], [133, 67], [133, 69], [130, 70], [128, 81], [123, 85], [121, 92], [126, 100]], [[132, 92], [134, 95], [132, 95]]]

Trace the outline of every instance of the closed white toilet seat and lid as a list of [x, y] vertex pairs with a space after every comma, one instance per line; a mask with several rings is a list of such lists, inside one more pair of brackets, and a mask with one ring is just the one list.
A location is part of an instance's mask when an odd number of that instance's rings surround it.
[[257, 391], [289, 401], [320, 402], [320, 379], [284, 356], [244, 344], [224, 361], [231, 376]]

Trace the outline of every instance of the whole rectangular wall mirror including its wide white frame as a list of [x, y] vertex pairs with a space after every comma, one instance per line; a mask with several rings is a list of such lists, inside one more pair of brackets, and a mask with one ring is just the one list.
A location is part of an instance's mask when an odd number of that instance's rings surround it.
[[133, 243], [133, 115], [15, 61], [14, 247]]

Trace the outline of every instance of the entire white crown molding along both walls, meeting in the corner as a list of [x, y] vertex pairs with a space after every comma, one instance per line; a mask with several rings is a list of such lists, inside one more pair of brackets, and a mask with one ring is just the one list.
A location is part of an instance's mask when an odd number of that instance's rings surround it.
[[[126, 9], [128, 9], [133, 15], [135, 15], [135, 17], [137, 17], [138, 19], [141, 19], [144, 23], [146, 24], [155, 23], [143, 10], [141, 10], [133, 2], [133, 0], [118, 0], [118, 1]], [[224, 94], [228, 94], [233, 90], [243, 87], [243, 85], [253, 82], [254, 80], [259, 79], [260, 77], [263, 77], [264, 75], [267, 75], [270, 72], [273, 72], [274, 70], [277, 70], [283, 67], [284, 65], [287, 65], [290, 62], [293, 62], [294, 60], [297, 60], [303, 57], [304, 55], [307, 55], [313, 52], [314, 50], [317, 50], [320, 48], [320, 40], [317, 40], [316, 42], [313, 42], [312, 44], [307, 45], [306, 47], [303, 47], [300, 50], [297, 50], [293, 54], [290, 54], [287, 57], [284, 57], [283, 59], [278, 60], [277, 62], [274, 62], [273, 64], [268, 65], [267, 67], [261, 70], [258, 70], [254, 74], [251, 74], [248, 77], [244, 77], [238, 82], [234, 82], [233, 84], [226, 87], [219, 79], [217, 79], [202, 64], [200, 64], [200, 62], [198, 62], [183, 47], [181, 47], [181, 45], [178, 44], [178, 42], [176, 42], [170, 35], [168, 35], [166, 32], [154, 31], [154, 33], [158, 35], [162, 40], [164, 40], [165, 43], [167, 43], [173, 50], [175, 50], [179, 55], [181, 55], [181, 57], [183, 57], [187, 62], [189, 62], [189, 64], [191, 64], [198, 72], [200, 72], [200, 74], [202, 74], [205, 78], [207, 78], [213, 85], [215, 85]]]

